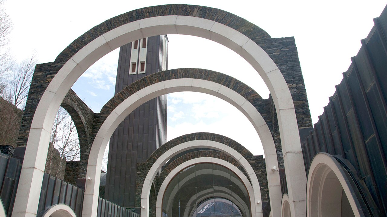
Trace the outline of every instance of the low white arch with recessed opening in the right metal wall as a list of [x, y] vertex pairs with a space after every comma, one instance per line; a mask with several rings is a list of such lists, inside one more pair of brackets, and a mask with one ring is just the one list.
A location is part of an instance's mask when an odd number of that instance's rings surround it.
[[349, 203], [348, 212], [352, 210], [353, 216], [365, 216], [343, 171], [328, 153], [317, 153], [313, 157], [307, 182], [307, 216], [341, 216], [344, 203]]

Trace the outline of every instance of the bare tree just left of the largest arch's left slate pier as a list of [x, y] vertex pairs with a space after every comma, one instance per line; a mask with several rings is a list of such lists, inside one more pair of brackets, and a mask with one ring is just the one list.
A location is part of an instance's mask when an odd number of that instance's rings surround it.
[[12, 103], [22, 110], [24, 110], [35, 65], [35, 54], [33, 54], [31, 58], [23, 60], [15, 67], [13, 76], [10, 79]]

